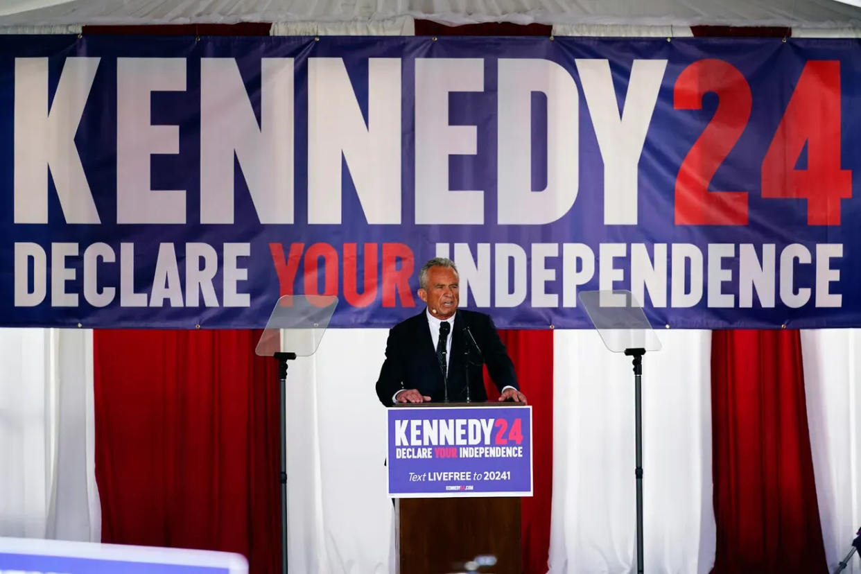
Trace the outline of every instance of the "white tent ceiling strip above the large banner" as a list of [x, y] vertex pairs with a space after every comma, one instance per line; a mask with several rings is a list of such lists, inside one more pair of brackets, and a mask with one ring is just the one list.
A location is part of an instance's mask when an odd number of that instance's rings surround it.
[[3, 0], [0, 27], [81, 24], [437, 22], [861, 28], [861, 8], [835, 0]]

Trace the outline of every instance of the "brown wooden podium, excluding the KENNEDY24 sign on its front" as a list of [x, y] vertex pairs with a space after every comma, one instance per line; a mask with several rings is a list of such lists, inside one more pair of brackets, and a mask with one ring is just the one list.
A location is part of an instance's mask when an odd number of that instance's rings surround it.
[[[402, 408], [509, 406], [517, 403], [424, 403]], [[400, 406], [400, 405], [399, 405]], [[492, 554], [481, 571], [519, 574], [520, 497], [437, 497], [395, 500], [399, 574], [448, 574]]]

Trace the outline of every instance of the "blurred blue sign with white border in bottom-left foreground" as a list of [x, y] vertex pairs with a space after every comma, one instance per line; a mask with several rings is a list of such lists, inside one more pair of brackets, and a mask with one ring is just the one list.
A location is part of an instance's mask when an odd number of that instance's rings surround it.
[[229, 552], [0, 538], [0, 572], [247, 574], [248, 563]]

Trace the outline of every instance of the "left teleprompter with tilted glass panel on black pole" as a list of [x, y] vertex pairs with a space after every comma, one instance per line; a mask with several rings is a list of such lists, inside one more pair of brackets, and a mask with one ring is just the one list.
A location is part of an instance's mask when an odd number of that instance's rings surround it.
[[328, 295], [284, 295], [278, 299], [269, 322], [257, 342], [255, 354], [278, 361], [278, 391], [281, 396], [281, 561], [287, 574], [287, 367], [288, 361], [313, 355], [329, 325], [338, 298]]

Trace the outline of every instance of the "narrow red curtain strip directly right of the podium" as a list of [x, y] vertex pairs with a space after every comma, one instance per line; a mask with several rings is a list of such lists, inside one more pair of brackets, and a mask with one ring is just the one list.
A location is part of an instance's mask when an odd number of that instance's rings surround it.
[[[553, 331], [500, 330], [517, 382], [532, 405], [533, 496], [520, 507], [523, 574], [546, 574], [553, 493]], [[487, 398], [499, 392], [485, 379]]]

